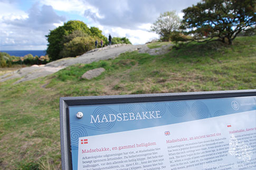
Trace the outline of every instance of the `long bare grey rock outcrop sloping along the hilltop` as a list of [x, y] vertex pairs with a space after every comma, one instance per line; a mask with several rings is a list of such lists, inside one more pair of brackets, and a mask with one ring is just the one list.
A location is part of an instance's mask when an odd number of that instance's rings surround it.
[[159, 48], [150, 49], [147, 45], [130, 45], [130, 44], [115, 44], [103, 48], [92, 49], [91, 51], [84, 53], [81, 56], [75, 58], [62, 58], [57, 61], [48, 63], [46, 65], [33, 65], [31, 67], [21, 68], [18, 71], [4, 74], [0, 76], [0, 82], [4, 82], [8, 79], [21, 78], [16, 83], [29, 81], [37, 77], [43, 77], [61, 69], [74, 64], [89, 64], [100, 60], [116, 58], [121, 53], [138, 51], [139, 53], [148, 53], [150, 55], [165, 54], [168, 52], [170, 45], [162, 46]]

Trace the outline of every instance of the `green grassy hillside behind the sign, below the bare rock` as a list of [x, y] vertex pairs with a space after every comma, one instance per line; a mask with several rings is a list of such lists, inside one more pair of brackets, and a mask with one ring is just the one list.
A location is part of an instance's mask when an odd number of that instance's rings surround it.
[[[150, 44], [151, 48], [160, 44]], [[59, 169], [59, 98], [168, 92], [222, 91], [256, 87], [256, 37], [189, 44], [166, 55], [137, 52], [67, 67], [53, 75], [13, 85], [0, 83], [0, 169]], [[93, 68], [106, 72], [80, 79]]]

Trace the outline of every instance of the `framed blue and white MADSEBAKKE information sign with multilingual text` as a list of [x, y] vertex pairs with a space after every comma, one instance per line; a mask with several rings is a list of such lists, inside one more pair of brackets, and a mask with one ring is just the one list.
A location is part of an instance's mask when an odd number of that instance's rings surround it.
[[255, 169], [256, 91], [63, 97], [63, 169]]

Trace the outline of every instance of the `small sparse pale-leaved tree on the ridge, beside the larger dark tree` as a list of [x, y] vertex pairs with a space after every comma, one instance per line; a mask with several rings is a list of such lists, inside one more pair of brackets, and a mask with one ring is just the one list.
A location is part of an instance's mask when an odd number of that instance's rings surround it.
[[160, 14], [157, 21], [151, 26], [151, 31], [160, 34], [163, 41], [170, 41], [170, 33], [178, 31], [181, 25], [181, 19], [175, 11]]

